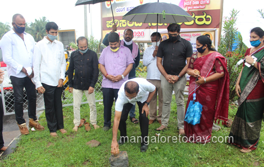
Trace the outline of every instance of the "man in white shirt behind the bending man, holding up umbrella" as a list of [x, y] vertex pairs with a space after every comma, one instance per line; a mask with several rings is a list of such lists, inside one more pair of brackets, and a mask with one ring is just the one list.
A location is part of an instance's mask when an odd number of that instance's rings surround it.
[[[158, 37], [157, 37], [158, 36]], [[161, 115], [162, 115], [162, 90], [160, 75], [161, 73], [157, 67], [157, 51], [158, 45], [161, 42], [161, 35], [158, 32], [153, 32], [150, 36], [152, 46], [148, 47], [143, 55], [143, 64], [148, 67], [147, 80], [156, 87], [156, 92], [149, 103], [149, 124], [152, 124], [156, 119], [159, 124], [161, 124]], [[157, 41], [158, 38], [158, 41]], [[158, 94], [158, 115], [157, 115], [157, 94]]]

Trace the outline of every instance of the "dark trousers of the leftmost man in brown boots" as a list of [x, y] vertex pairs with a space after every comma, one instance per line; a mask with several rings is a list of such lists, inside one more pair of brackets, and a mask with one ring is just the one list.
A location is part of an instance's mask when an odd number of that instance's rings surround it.
[[37, 120], [36, 117], [37, 93], [36, 93], [35, 85], [31, 81], [31, 79], [27, 76], [23, 78], [10, 76], [10, 80], [12, 82], [14, 89], [15, 115], [16, 115], [17, 123], [18, 124], [25, 123], [25, 119], [23, 118], [24, 88], [26, 90], [27, 103], [28, 103], [28, 117]]

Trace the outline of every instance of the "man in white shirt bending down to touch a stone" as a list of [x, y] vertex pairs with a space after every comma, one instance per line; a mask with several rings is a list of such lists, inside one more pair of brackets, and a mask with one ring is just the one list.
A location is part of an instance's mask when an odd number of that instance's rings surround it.
[[[128, 141], [126, 135], [126, 119], [133, 105], [139, 106], [139, 123], [141, 130], [141, 152], [148, 149], [148, 103], [151, 101], [156, 88], [144, 78], [133, 78], [125, 81], [118, 91], [118, 98], [115, 104], [115, 118], [113, 126], [113, 140], [111, 153], [118, 154], [118, 144]], [[120, 140], [117, 142], [117, 129], [120, 131]]]

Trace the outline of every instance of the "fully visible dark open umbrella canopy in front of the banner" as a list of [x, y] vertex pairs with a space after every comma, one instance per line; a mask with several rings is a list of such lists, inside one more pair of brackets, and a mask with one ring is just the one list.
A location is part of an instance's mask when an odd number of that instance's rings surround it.
[[179, 6], [158, 2], [140, 5], [125, 14], [123, 19], [141, 23], [183, 23], [194, 20]]

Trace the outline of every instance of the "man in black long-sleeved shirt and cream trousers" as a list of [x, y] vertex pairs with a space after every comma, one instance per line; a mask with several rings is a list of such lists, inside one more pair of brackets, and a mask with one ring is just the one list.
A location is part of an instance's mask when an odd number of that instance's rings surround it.
[[[80, 126], [80, 106], [83, 92], [90, 106], [90, 122], [94, 129], [100, 128], [96, 124], [96, 106], [94, 86], [98, 80], [98, 58], [95, 52], [88, 49], [88, 40], [81, 36], [77, 39], [78, 50], [72, 52], [68, 69], [69, 92], [74, 100], [74, 131]], [[74, 75], [73, 75], [74, 74]], [[74, 77], [74, 79], [73, 79]], [[83, 124], [83, 122], [82, 122]], [[81, 124], [81, 125], [82, 125]]]

